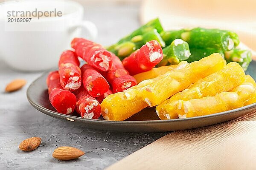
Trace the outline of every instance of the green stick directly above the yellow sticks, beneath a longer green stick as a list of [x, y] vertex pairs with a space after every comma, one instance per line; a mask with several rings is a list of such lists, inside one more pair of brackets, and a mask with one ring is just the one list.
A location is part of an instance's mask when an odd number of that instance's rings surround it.
[[189, 48], [191, 56], [186, 60], [188, 63], [198, 61], [204, 57], [207, 57], [213, 53], [219, 53], [222, 55], [224, 58], [224, 52], [220, 49], [215, 49], [215, 48]]

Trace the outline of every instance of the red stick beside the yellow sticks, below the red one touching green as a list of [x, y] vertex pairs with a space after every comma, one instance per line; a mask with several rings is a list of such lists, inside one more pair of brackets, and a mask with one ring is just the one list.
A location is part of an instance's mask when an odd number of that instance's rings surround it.
[[126, 89], [137, 85], [136, 79], [130, 76], [128, 71], [125, 70], [121, 60], [112, 54], [113, 63], [110, 71], [102, 73], [108, 82], [112, 85], [113, 93], [125, 91]]

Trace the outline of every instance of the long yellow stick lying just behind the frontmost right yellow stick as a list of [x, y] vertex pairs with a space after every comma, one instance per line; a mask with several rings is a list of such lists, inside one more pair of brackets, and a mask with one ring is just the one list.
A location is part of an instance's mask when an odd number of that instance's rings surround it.
[[200, 99], [205, 96], [215, 96], [224, 91], [230, 91], [245, 80], [243, 68], [237, 62], [230, 62], [223, 69], [204, 79], [198, 80], [189, 89], [185, 89], [156, 107], [160, 119], [176, 119], [178, 100]]

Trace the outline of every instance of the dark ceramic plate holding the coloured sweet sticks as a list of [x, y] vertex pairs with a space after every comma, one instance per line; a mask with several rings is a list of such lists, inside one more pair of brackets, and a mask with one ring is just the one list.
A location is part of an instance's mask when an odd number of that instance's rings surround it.
[[[256, 79], [256, 61], [253, 61], [247, 72], [253, 79]], [[192, 129], [214, 125], [234, 119], [256, 108], [256, 103], [237, 108], [231, 111], [215, 113], [206, 116], [198, 116], [186, 119], [160, 120], [154, 109], [145, 108], [140, 113], [125, 121], [108, 121], [98, 119], [83, 119], [77, 113], [64, 115], [55, 111], [48, 100], [47, 85], [45, 83], [48, 73], [36, 79], [27, 90], [27, 98], [30, 104], [38, 111], [57, 119], [70, 121], [75, 125], [91, 129], [110, 130], [119, 132], [165, 132], [173, 130]]]

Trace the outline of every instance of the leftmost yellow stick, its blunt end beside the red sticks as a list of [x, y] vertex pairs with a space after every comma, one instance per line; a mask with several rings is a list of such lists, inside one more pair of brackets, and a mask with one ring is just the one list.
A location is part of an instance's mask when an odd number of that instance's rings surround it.
[[[184, 68], [184, 62], [180, 62], [175, 70]], [[106, 120], [125, 120], [138, 113], [148, 105], [136, 96], [140, 89], [154, 83], [151, 79], [140, 82], [140, 84], [129, 88], [124, 92], [111, 94], [101, 104], [102, 116]]]

